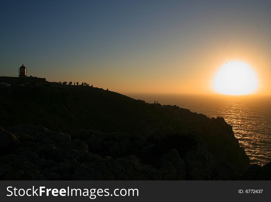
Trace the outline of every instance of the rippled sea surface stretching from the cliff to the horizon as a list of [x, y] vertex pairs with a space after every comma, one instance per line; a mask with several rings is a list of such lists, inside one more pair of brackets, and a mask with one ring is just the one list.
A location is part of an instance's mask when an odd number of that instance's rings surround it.
[[224, 117], [249, 156], [250, 163], [271, 161], [271, 97], [129, 94], [134, 99], [177, 105], [207, 117]]

